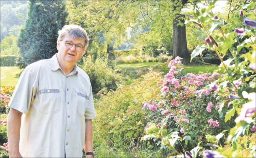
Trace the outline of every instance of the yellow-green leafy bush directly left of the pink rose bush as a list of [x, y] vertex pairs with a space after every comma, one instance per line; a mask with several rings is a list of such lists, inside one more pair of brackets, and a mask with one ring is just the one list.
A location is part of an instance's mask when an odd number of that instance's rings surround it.
[[141, 103], [160, 95], [157, 82], [160, 73], [150, 72], [132, 86], [124, 86], [96, 102], [94, 122], [96, 139], [104, 139], [113, 147], [127, 147], [138, 142], [147, 123]]

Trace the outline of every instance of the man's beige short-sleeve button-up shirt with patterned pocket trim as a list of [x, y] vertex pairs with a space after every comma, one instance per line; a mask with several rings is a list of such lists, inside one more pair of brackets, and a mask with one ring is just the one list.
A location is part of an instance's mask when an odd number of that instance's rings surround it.
[[56, 55], [25, 68], [9, 103], [23, 113], [23, 157], [82, 157], [85, 120], [96, 116], [88, 75], [75, 65], [66, 76]]

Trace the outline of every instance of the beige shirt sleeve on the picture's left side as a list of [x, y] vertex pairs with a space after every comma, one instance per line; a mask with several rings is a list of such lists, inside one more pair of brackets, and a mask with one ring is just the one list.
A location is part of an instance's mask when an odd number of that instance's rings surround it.
[[35, 78], [36, 76], [32, 72], [32, 65], [28, 65], [19, 77], [9, 103], [10, 107], [24, 114], [29, 112], [38, 87]]

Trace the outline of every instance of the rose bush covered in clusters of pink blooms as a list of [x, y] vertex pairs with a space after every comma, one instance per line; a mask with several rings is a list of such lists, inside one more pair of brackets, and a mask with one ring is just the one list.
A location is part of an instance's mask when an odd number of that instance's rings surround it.
[[[219, 74], [183, 74], [182, 69], [176, 70], [175, 67], [176, 64], [181, 65], [179, 60], [177, 57], [170, 61], [169, 73], [158, 82], [162, 91], [160, 101], [150, 99], [143, 103], [143, 109], [149, 112], [148, 117], [152, 119], [146, 127], [148, 135], [144, 140], [150, 137], [160, 138], [156, 139], [156, 143], [165, 142], [166, 144], [162, 143], [163, 147], [170, 143], [171, 147], [181, 152], [183, 148], [191, 150], [201, 141], [206, 147], [205, 135], [217, 135], [225, 129], [231, 129], [232, 122], [224, 122], [220, 119], [222, 117], [218, 113], [218, 101], [213, 96], [217, 86], [212, 84], [204, 88]], [[229, 109], [229, 107], [223, 108]], [[167, 139], [173, 137], [173, 134], [181, 139], [173, 139], [173, 141]]]

